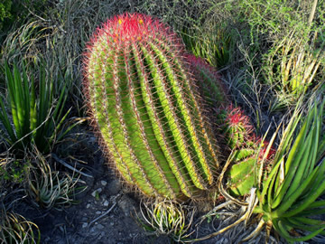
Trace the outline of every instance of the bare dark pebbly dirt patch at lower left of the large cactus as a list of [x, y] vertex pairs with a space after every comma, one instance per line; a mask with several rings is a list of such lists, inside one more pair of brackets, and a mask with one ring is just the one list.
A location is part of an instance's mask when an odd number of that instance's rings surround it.
[[95, 136], [91, 132], [81, 135], [82, 143], [75, 152], [88, 163], [83, 172], [91, 177], [81, 176], [87, 189], [78, 195], [78, 203], [60, 210], [42, 210], [25, 199], [17, 206], [20, 214], [40, 228], [41, 243], [173, 243], [166, 236], [144, 231], [136, 220], [137, 214], [141, 216], [139, 196], [125, 189], [107, 167]]

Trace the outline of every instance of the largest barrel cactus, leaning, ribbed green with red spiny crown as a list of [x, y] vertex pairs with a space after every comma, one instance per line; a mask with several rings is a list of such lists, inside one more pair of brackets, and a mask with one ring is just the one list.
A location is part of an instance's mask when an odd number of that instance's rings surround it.
[[181, 40], [144, 14], [98, 28], [85, 53], [85, 94], [101, 144], [145, 195], [202, 196], [218, 159], [193, 93]]

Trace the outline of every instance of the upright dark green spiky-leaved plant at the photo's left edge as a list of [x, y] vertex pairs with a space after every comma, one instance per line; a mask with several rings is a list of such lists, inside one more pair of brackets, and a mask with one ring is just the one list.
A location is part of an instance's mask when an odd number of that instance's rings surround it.
[[10, 70], [5, 63], [5, 80], [8, 90], [7, 103], [11, 116], [3, 99], [0, 98], [0, 122], [5, 131], [3, 136], [13, 149], [23, 150], [36, 145], [42, 153], [48, 153], [55, 140], [66, 135], [70, 129], [60, 133], [60, 128], [68, 116], [63, 114], [67, 93], [63, 87], [60, 98], [53, 95], [53, 80], [49, 80], [46, 71], [40, 67], [38, 90], [32, 75], [27, 75], [23, 65], [19, 70], [14, 64]]

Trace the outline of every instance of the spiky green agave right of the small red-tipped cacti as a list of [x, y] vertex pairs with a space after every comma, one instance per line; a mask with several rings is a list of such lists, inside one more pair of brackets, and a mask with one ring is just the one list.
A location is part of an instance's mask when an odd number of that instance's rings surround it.
[[314, 104], [294, 141], [302, 115], [293, 117], [284, 131], [272, 171], [257, 191], [254, 212], [262, 219], [254, 234], [265, 225], [289, 242], [325, 234], [325, 223], [317, 218], [325, 212], [325, 202], [318, 200], [325, 192], [324, 105], [325, 101]]

